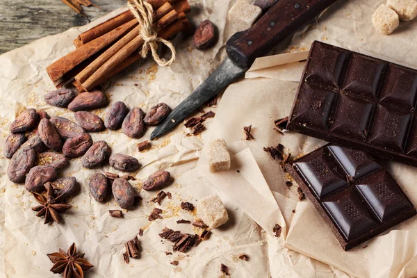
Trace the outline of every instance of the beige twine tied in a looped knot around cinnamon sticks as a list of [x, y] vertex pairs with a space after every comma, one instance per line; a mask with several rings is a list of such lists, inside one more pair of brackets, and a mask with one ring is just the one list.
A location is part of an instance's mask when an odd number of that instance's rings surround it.
[[[145, 58], [149, 49], [151, 49], [152, 57], [158, 65], [166, 67], [174, 63], [174, 60], [177, 57], [174, 45], [163, 38], [159, 38], [154, 28], [152, 28], [152, 14], [154, 13], [152, 5], [143, 0], [128, 0], [127, 6], [129, 6], [129, 9], [134, 17], [138, 19], [140, 26], [139, 35], [145, 41], [142, 49], [140, 50], [142, 58]], [[165, 60], [164, 58], [161, 58], [158, 53], [156, 53], [156, 50], [158, 49], [158, 42], [165, 44], [170, 49], [172, 54], [170, 60]]]

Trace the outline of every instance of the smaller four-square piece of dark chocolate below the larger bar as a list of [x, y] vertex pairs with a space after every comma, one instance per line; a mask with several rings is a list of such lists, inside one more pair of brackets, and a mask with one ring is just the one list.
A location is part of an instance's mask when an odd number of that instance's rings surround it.
[[391, 174], [367, 152], [325, 145], [286, 165], [344, 250], [416, 215]]

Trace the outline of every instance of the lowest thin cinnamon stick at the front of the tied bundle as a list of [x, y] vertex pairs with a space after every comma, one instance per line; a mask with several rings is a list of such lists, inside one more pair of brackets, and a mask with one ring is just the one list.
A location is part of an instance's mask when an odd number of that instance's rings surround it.
[[[154, 24], [154, 30], [156, 33], [161, 32], [163, 28], [174, 22], [178, 18], [178, 13], [175, 10], [171, 10], [167, 15], [163, 16], [158, 22]], [[88, 91], [95, 86], [99, 85], [104, 76], [108, 76], [117, 65], [122, 63], [124, 59], [129, 57], [134, 51], [142, 47], [144, 40], [141, 36], [136, 36], [128, 44], [126, 44], [120, 51], [113, 55], [110, 59], [106, 61], [99, 69], [94, 72], [88, 79], [82, 83], [84, 90]]]

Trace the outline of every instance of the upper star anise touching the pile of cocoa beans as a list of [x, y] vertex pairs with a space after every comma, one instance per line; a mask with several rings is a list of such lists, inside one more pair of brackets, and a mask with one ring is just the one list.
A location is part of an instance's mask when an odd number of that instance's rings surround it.
[[44, 224], [54, 221], [59, 224], [61, 220], [59, 213], [63, 213], [72, 207], [70, 204], [61, 204], [61, 200], [56, 199], [52, 186], [48, 187], [47, 197], [35, 192], [33, 192], [33, 196], [40, 206], [34, 206], [32, 210], [38, 211], [36, 216], [45, 217]]

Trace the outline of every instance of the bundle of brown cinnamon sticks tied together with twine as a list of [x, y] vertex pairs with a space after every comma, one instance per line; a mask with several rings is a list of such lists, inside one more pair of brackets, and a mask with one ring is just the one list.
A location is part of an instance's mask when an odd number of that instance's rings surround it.
[[[167, 40], [190, 27], [187, 0], [147, 0], [154, 8], [154, 30]], [[56, 88], [72, 81], [79, 92], [92, 90], [142, 56], [144, 40], [130, 10], [103, 22], [74, 40], [76, 49], [47, 67]]]

